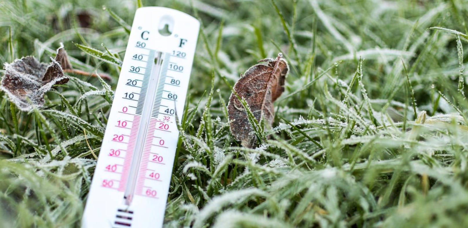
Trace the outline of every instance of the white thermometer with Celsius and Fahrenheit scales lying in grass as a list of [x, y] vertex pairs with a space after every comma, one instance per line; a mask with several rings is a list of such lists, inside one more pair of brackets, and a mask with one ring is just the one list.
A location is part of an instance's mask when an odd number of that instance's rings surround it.
[[83, 228], [162, 226], [199, 27], [174, 9], [137, 9]]

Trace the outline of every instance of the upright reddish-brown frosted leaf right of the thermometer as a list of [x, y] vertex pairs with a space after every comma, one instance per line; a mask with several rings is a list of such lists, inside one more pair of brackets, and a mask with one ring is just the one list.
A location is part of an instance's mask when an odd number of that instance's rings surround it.
[[[263, 117], [265, 123], [271, 126], [274, 120], [273, 101], [285, 90], [288, 64], [281, 53], [276, 59], [263, 59], [258, 62], [268, 64], [256, 64], [245, 71], [234, 85], [234, 92], [247, 102], [257, 121]], [[247, 111], [234, 93], [229, 98], [227, 111], [234, 138], [241, 141], [244, 147], [256, 147], [256, 135], [251, 134], [253, 127], [249, 123]]]

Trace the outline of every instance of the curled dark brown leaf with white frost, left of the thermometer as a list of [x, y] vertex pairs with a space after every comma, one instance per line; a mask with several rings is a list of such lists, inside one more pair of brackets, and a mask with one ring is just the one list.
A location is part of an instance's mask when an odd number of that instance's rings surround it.
[[28, 56], [5, 64], [0, 89], [23, 111], [29, 111], [33, 106], [43, 106], [44, 93], [52, 86], [63, 85], [69, 80], [59, 62], [52, 58], [51, 61], [48, 65]]

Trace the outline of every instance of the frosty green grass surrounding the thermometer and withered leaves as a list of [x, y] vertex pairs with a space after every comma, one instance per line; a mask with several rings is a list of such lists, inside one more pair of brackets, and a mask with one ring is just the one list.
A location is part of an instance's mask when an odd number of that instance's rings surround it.
[[[468, 226], [466, 0], [7, 0], [0, 62], [48, 61], [62, 42], [75, 68], [113, 80], [70, 75], [29, 113], [0, 94], [0, 227], [79, 227], [141, 4], [203, 28], [166, 227]], [[278, 52], [290, 72], [275, 122], [242, 148], [230, 86]]]

